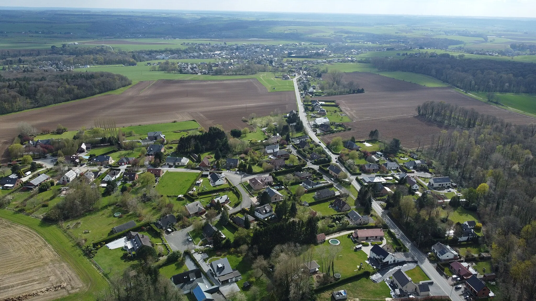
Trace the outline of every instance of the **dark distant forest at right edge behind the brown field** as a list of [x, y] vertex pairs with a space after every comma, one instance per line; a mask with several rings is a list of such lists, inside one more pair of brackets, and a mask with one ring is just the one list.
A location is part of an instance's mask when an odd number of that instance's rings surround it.
[[374, 58], [382, 71], [426, 74], [465, 91], [536, 93], [536, 65], [495, 59], [456, 58], [449, 54], [404, 59]]

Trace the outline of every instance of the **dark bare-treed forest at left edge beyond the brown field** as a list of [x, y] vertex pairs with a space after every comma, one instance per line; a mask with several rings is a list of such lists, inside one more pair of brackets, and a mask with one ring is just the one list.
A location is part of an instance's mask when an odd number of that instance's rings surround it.
[[132, 84], [109, 72], [0, 72], [0, 114], [39, 108], [112, 91]]

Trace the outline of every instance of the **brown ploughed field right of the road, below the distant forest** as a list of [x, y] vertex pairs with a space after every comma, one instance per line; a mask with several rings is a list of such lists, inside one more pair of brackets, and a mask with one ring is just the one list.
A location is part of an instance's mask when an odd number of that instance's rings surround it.
[[516, 114], [469, 96], [449, 87], [429, 88], [411, 82], [392, 79], [368, 72], [345, 73], [344, 80], [354, 80], [365, 89], [362, 94], [326, 96], [319, 100], [336, 100], [340, 108], [352, 119], [347, 123], [351, 131], [323, 137], [326, 142], [333, 137], [348, 139], [368, 138], [371, 130], [378, 129], [383, 139], [398, 138], [405, 147], [428, 145], [430, 138], [452, 127], [438, 125], [417, 116], [416, 108], [425, 101], [444, 101], [481, 114], [494, 115], [513, 124], [536, 123], [535, 118]]

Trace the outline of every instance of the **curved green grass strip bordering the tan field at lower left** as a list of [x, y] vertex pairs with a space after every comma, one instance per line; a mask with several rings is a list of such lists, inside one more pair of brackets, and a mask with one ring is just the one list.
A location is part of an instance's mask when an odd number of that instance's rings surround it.
[[76, 294], [57, 300], [92, 301], [94, 300], [94, 294], [108, 286], [104, 277], [91, 265], [81, 250], [55, 224], [49, 224], [27, 215], [3, 209], [0, 209], [0, 217], [24, 225], [37, 232], [75, 270], [80, 280], [85, 284], [84, 288]]

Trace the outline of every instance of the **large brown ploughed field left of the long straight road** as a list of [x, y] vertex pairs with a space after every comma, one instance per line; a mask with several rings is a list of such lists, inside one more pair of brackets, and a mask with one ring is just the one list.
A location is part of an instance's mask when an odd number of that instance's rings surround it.
[[0, 116], [0, 154], [17, 136], [17, 123], [36, 129], [69, 130], [91, 127], [96, 118], [113, 118], [117, 126], [153, 124], [196, 119], [205, 129], [221, 124], [224, 129], [243, 129], [241, 121], [251, 113], [267, 116], [279, 109], [296, 109], [294, 91], [268, 92], [257, 79], [142, 81], [121, 95], [101, 95], [56, 106]]

